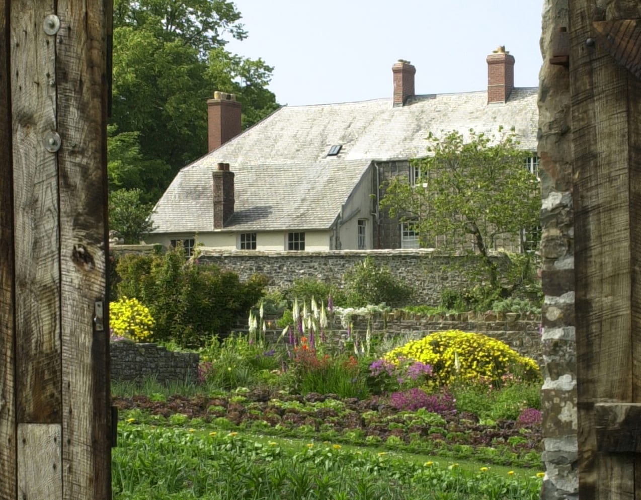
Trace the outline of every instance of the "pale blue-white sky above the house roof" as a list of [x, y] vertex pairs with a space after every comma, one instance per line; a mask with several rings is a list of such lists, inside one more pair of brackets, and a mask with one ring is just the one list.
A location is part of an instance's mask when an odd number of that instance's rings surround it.
[[274, 67], [280, 104], [392, 97], [392, 65], [416, 67], [417, 94], [487, 88], [505, 46], [515, 87], [537, 87], [543, 0], [236, 0], [249, 37], [231, 52]]

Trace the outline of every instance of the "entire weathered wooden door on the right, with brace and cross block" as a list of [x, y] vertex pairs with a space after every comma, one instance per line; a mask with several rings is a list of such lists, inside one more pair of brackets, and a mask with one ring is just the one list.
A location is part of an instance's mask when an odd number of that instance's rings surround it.
[[641, 499], [641, 3], [568, 5], [579, 498]]

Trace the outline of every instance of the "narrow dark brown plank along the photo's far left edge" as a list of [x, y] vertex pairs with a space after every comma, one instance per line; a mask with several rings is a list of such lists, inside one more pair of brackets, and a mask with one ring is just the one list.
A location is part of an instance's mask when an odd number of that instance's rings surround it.
[[17, 497], [9, 0], [0, 0], [0, 500]]

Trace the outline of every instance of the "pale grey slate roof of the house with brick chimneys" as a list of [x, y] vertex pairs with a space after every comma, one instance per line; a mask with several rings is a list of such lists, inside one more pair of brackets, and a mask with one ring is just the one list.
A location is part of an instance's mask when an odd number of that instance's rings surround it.
[[[429, 131], [514, 126], [520, 147], [537, 149], [537, 88], [515, 88], [507, 103], [487, 92], [285, 106], [181, 169], [153, 214], [154, 233], [213, 231], [212, 171], [235, 172], [235, 213], [219, 231], [328, 229], [372, 161], [426, 155]], [[329, 148], [342, 145], [338, 156]]]

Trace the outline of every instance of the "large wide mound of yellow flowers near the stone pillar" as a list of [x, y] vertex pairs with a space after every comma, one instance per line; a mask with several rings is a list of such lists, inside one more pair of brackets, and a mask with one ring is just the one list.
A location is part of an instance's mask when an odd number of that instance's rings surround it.
[[535, 360], [487, 335], [460, 330], [438, 331], [411, 340], [383, 356], [397, 363], [407, 358], [431, 365], [435, 381], [447, 385], [456, 381], [492, 381], [516, 374], [526, 380], [540, 377]]

